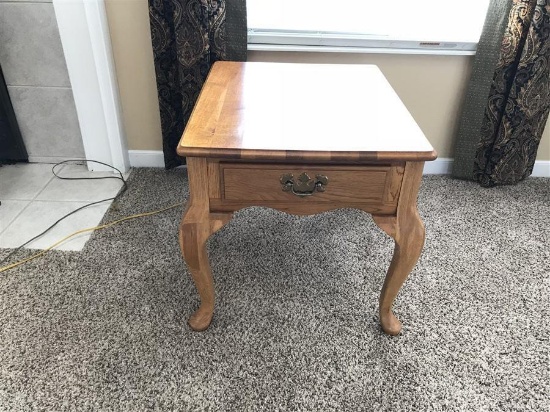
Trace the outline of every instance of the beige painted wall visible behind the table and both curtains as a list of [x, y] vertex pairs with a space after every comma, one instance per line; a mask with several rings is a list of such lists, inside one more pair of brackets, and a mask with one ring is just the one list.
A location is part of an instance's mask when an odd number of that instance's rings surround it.
[[[162, 150], [147, 0], [106, 1], [129, 148]], [[442, 158], [453, 157], [472, 60], [470, 56], [249, 53], [249, 61], [378, 65]], [[550, 160], [550, 127], [537, 158]]]

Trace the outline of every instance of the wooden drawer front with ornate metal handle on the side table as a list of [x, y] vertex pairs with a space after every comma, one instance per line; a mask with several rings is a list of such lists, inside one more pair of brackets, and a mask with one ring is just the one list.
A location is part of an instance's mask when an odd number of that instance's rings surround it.
[[220, 163], [222, 201], [396, 205], [401, 166]]

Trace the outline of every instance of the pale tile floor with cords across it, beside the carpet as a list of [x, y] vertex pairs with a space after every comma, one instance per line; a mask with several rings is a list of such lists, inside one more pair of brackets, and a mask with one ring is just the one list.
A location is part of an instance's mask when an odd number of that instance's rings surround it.
[[[62, 165], [56, 172], [64, 177], [118, 176], [118, 173], [89, 172], [84, 165]], [[0, 248], [18, 247], [67, 213], [116, 196], [121, 186], [122, 182], [116, 179], [61, 180], [53, 175], [50, 164], [1, 166]], [[77, 230], [96, 226], [110, 204], [111, 201], [103, 202], [76, 212], [26, 247], [45, 249]], [[91, 233], [77, 235], [56, 249], [82, 250]]]

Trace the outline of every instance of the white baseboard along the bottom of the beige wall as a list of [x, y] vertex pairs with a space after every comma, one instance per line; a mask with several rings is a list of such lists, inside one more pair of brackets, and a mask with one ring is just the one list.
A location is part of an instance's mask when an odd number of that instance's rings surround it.
[[[128, 150], [131, 167], [164, 167], [161, 150]], [[424, 164], [425, 175], [448, 175], [453, 169], [453, 159], [440, 158]], [[550, 177], [550, 160], [537, 160], [533, 177]]]

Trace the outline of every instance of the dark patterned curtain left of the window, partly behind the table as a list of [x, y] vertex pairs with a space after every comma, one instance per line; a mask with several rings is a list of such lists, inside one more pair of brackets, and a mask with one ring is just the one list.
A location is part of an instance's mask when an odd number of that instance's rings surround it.
[[208, 71], [246, 60], [245, 0], [149, 0], [164, 163], [185, 163], [176, 147]]

